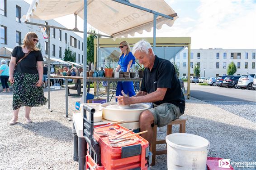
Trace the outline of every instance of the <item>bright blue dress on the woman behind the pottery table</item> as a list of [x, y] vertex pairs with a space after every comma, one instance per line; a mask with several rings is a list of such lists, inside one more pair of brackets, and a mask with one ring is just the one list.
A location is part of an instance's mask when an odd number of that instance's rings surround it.
[[[123, 58], [123, 55], [121, 55], [118, 62], [118, 64], [121, 66], [120, 71], [127, 72], [127, 67], [128, 67], [129, 61], [131, 60], [133, 60], [133, 63], [130, 68], [132, 68], [133, 64], [135, 64], [135, 57], [133, 56], [132, 52], [129, 52], [128, 54], [126, 54], [124, 58]], [[119, 95], [123, 96], [123, 94], [121, 94], [122, 90], [128, 96], [130, 97], [134, 96], [135, 91], [133, 87], [133, 81], [119, 81], [116, 87], [116, 96], [119, 96]]]

